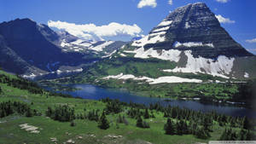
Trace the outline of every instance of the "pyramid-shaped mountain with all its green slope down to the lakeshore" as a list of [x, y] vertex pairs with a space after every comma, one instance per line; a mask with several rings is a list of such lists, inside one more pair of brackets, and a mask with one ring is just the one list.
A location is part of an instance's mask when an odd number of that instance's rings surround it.
[[253, 91], [241, 89], [253, 89], [255, 72], [255, 55], [230, 37], [205, 3], [194, 3], [176, 9], [147, 36], [78, 75], [42, 82], [252, 107]]

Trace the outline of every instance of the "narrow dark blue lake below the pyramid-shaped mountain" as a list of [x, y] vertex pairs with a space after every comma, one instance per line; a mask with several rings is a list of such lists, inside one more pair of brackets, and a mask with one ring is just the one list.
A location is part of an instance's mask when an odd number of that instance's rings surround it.
[[136, 102], [139, 104], [149, 105], [150, 103], [159, 102], [163, 106], [178, 106], [178, 107], [186, 107], [195, 111], [202, 112], [210, 112], [216, 111], [218, 113], [223, 113], [230, 116], [247, 116], [250, 118], [256, 118], [256, 111], [252, 109], [248, 109], [245, 107], [232, 107], [232, 106], [219, 106], [212, 104], [205, 104], [199, 101], [180, 101], [180, 100], [171, 100], [165, 101], [166, 98], [150, 98], [138, 95], [132, 95], [126, 90], [121, 89], [104, 89], [91, 84], [73, 84], [70, 85], [79, 90], [72, 92], [64, 92], [69, 95], [73, 95], [74, 97], [81, 97], [84, 99], [90, 100], [100, 100], [104, 98], [110, 99], [119, 99], [119, 101], [124, 102]]

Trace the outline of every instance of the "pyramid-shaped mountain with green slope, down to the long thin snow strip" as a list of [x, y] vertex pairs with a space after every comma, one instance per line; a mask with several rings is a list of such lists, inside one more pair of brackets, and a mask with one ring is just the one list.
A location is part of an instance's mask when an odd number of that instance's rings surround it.
[[162, 84], [249, 78], [256, 78], [255, 55], [230, 37], [205, 3], [174, 10], [147, 36], [75, 77], [81, 83], [99, 84], [113, 79]]

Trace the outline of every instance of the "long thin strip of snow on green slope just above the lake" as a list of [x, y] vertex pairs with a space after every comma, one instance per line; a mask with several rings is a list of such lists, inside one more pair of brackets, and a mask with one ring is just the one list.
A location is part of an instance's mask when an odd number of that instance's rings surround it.
[[200, 79], [189, 79], [189, 78], [179, 78], [175, 76], [166, 76], [166, 77], [160, 77], [160, 78], [148, 78], [148, 77], [135, 77], [132, 74], [126, 74], [120, 73], [116, 76], [108, 76], [102, 79], [133, 79], [133, 80], [145, 80], [148, 84], [161, 84], [161, 83], [202, 83], [202, 80]]

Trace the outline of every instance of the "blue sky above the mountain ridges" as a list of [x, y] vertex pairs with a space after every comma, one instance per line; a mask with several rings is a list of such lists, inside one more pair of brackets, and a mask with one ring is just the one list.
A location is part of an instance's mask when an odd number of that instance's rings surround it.
[[[94, 34], [104, 39], [128, 40], [136, 35], [146, 35], [177, 7], [204, 2], [213, 13], [230, 19], [230, 23], [221, 25], [238, 43], [256, 54], [256, 39], [253, 41], [256, 38], [255, 0], [172, 0], [172, 5], [169, 0], [143, 0], [148, 1], [148, 6], [144, 4], [143, 8], [138, 8], [140, 1], [142, 0], [0, 0], [0, 22], [30, 18], [38, 23], [48, 24], [49, 20], [60, 20], [75, 26], [92, 26], [96, 31]], [[118, 27], [115, 32], [101, 33], [102, 29], [113, 26]], [[119, 32], [120, 29], [122, 32]]]

